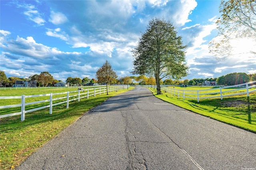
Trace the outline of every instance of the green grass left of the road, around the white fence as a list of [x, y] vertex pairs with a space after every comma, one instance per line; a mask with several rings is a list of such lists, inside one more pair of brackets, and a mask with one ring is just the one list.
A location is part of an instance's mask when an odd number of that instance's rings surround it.
[[[130, 87], [129, 89], [132, 89]], [[1, 96], [21, 96], [49, 94], [51, 92], [66, 92], [70, 89], [42, 89], [42, 90], [1, 90]], [[76, 90], [76, 89], [72, 89]], [[102, 94], [89, 99], [80, 99], [80, 102], [73, 101], [66, 104], [54, 106], [52, 114], [49, 114], [49, 108], [26, 113], [25, 120], [20, 121], [20, 115], [2, 118], [0, 120], [0, 169], [13, 169], [24, 161], [29, 155], [38, 150], [43, 144], [51, 138], [58, 135], [60, 131], [75, 122], [85, 112], [94, 106], [104, 102], [106, 99], [125, 92], [110, 92], [109, 95]], [[48, 96], [49, 97], [49, 96]], [[41, 100], [41, 99], [40, 99]], [[0, 101], [1, 105], [3, 104]], [[9, 101], [13, 102], [13, 101]], [[20, 102], [20, 99], [16, 102]], [[20, 109], [20, 108], [19, 108]], [[2, 112], [4, 114], [4, 112]]]

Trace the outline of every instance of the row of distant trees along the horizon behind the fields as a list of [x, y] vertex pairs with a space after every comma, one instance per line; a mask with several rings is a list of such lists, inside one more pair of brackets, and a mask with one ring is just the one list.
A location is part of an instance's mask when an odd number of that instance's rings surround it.
[[[53, 76], [49, 72], [41, 72], [41, 74], [34, 74], [32, 76], [29, 76], [29, 78], [18, 78], [18, 77], [6, 77], [6, 74], [4, 71], [0, 70], [0, 86], [6, 86], [6, 87], [12, 87], [13, 84], [15, 84], [16, 80], [23, 80], [23, 81], [29, 81], [29, 80], [36, 80], [37, 86], [54, 86], [54, 84], [58, 82], [62, 82], [61, 80], [56, 80], [53, 78]], [[256, 81], [256, 74], [246, 74], [246, 73], [230, 73], [225, 76], [220, 76], [219, 78], [194, 78], [192, 80], [172, 80], [172, 79], [165, 79], [164, 81], [160, 81], [160, 84], [164, 85], [202, 85], [204, 84], [204, 81], [216, 81], [218, 85], [227, 85], [232, 86], [236, 84], [242, 84], [250, 81]], [[95, 78], [79, 78], [79, 77], [68, 77], [66, 79], [66, 83], [69, 84], [69, 86], [80, 86], [80, 85], [86, 85], [87, 83], [104, 83], [99, 82]], [[106, 84], [106, 83], [104, 83]], [[111, 80], [111, 82], [108, 82], [108, 84], [140, 84], [140, 85], [156, 85], [156, 79], [153, 76], [126, 76], [126, 77], [120, 77]]]

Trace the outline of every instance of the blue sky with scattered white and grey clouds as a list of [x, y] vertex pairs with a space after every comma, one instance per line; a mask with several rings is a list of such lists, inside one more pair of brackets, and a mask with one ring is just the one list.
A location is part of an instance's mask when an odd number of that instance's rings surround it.
[[[208, 42], [217, 36], [219, 0], [0, 1], [0, 70], [27, 78], [47, 71], [57, 80], [95, 78], [106, 60], [118, 77], [132, 76], [133, 56], [151, 18], [170, 20], [182, 36], [189, 75], [215, 78], [256, 73], [243, 52], [216, 60]], [[255, 43], [255, 42], [254, 42]], [[237, 51], [252, 43], [238, 41]], [[138, 76], [138, 75], [136, 75]]]

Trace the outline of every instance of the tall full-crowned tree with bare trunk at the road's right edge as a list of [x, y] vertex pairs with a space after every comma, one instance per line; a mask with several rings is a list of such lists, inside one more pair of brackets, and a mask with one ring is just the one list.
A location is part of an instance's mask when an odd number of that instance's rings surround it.
[[182, 37], [177, 36], [176, 28], [170, 21], [153, 18], [133, 50], [135, 60], [132, 74], [154, 75], [157, 94], [161, 94], [162, 78], [180, 79], [187, 76], [185, 48]]

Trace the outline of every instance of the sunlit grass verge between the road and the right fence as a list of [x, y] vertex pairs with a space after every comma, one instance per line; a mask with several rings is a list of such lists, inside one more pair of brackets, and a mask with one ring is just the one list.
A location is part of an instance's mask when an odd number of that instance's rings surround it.
[[192, 112], [210, 117], [212, 119], [256, 132], [256, 94], [232, 96], [228, 98], [196, 99], [177, 98], [166, 92], [156, 95], [156, 89], [149, 88], [154, 96], [163, 101], [190, 110]]

